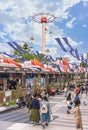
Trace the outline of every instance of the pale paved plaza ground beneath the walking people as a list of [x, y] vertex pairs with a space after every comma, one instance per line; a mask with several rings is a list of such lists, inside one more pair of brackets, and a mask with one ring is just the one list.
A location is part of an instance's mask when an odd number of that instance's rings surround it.
[[[73, 110], [71, 114], [66, 113], [66, 100], [64, 96], [55, 96], [50, 99], [54, 120], [46, 130], [76, 130]], [[88, 130], [88, 104], [80, 106], [83, 120], [83, 130]], [[29, 122], [27, 109], [18, 109], [12, 112], [0, 114], [1, 130], [41, 130], [41, 125], [33, 126]]]

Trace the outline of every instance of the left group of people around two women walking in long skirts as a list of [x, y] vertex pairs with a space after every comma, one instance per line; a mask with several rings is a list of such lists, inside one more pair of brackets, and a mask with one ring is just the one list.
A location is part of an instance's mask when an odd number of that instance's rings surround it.
[[48, 98], [62, 93], [63, 91], [59, 88], [56, 88], [54, 91], [50, 88], [48, 91], [44, 90], [41, 93], [36, 92], [34, 95], [29, 93], [17, 99], [16, 104], [19, 108], [27, 107], [30, 115], [29, 120], [33, 125], [41, 123], [42, 127], [45, 128], [52, 120], [52, 111]]

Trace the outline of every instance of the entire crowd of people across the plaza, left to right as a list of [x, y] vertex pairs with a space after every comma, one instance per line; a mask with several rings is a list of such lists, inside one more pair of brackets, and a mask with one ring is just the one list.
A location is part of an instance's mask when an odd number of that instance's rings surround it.
[[[54, 95], [63, 94], [66, 97], [67, 102], [67, 114], [71, 113], [71, 109], [74, 108], [74, 120], [76, 123], [76, 128], [83, 130], [82, 127], [82, 117], [80, 111], [80, 96], [83, 96], [84, 89], [81, 89], [82, 85], [77, 85], [74, 91], [69, 91], [66, 86], [63, 91], [59, 88], [53, 91], [50, 88], [48, 91], [44, 90], [42, 93], [31, 93], [27, 94], [25, 97], [20, 97], [17, 104], [20, 108], [27, 107], [29, 114], [29, 120], [33, 125], [42, 125], [42, 128], [46, 128], [51, 121], [52, 110], [49, 103], [49, 97]], [[72, 97], [72, 92], [74, 92], [74, 98]], [[85, 87], [85, 95], [87, 95], [87, 90]], [[79, 96], [80, 95], [80, 96]], [[84, 102], [84, 105], [86, 103]]]

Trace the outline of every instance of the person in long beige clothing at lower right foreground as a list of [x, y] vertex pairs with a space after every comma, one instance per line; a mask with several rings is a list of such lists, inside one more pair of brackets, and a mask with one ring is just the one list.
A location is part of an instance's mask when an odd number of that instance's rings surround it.
[[83, 130], [82, 117], [81, 117], [79, 105], [80, 105], [80, 100], [79, 99], [74, 100], [74, 120], [76, 122], [77, 130]]

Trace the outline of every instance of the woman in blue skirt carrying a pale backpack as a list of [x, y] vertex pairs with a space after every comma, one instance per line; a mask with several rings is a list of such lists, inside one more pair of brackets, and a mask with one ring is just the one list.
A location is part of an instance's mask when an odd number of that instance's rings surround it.
[[48, 126], [50, 122], [50, 114], [51, 114], [50, 103], [46, 96], [43, 97], [43, 100], [41, 102], [40, 113], [41, 113], [42, 127], [45, 128], [46, 126]]

